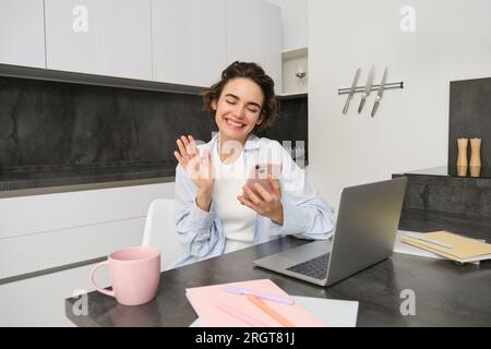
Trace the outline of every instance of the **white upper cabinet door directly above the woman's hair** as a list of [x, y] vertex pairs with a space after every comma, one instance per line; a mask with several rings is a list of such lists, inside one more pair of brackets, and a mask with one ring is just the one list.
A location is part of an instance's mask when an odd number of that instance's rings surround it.
[[282, 12], [263, 0], [227, 0], [227, 64], [259, 63], [282, 92]]

